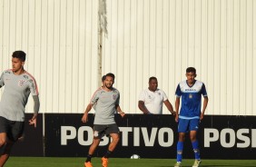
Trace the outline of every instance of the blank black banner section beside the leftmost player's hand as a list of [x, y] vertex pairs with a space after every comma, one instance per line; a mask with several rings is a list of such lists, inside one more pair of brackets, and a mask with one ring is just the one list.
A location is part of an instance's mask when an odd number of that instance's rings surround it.
[[44, 156], [43, 114], [38, 114], [36, 128], [28, 123], [32, 117], [33, 113], [25, 114], [25, 131], [23, 137], [15, 142], [11, 156]]

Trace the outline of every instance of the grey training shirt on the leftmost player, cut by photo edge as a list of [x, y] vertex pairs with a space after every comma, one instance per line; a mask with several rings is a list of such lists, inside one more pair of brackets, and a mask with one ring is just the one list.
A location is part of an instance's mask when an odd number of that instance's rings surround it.
[[12, 70], [6, 70], [0, 77], [0, 87], [4, 85], [5, 90], [0, 103], [0, 116], [7, 120], [24, 122], [25, 104], [29, 94], [38, 96], [34, 77], [27, 72], [15, 75]]

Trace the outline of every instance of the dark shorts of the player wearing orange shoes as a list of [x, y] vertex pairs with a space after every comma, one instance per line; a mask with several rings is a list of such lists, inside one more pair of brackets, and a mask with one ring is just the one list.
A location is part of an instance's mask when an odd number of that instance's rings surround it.
[[94, 124], [94, 138], [101, 139], [105, 134], [120, 133], [118, 126], [114, 124]]

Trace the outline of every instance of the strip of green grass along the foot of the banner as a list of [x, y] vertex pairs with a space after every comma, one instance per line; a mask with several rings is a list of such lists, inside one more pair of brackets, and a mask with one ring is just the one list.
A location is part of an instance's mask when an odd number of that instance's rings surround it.
[[[10, 157], [5, 167], [84, 167], [85, 158], [50, 158], [50, 157]], [[93, 158], [94, 167], [101, 167], [101, 159]], [[171, 167], [173, 159], [138, 159], [111, 158], [109, 167]], [[182, 167], [192, 166], [192, 159], [184, 159]], [[256, 160], [202, 160], [205, 167], [245, 167], [256, 166]]]

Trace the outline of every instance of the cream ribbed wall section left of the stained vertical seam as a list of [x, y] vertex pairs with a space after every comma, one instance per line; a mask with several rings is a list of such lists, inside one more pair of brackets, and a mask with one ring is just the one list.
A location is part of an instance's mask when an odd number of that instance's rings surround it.
[[[27, 53], [44, 113], [83, 113], [97, 88], [94, 0], [0, 0], [0, 70], [15, 50]], [[30, 98], [27, 112], [33, 112]]]

